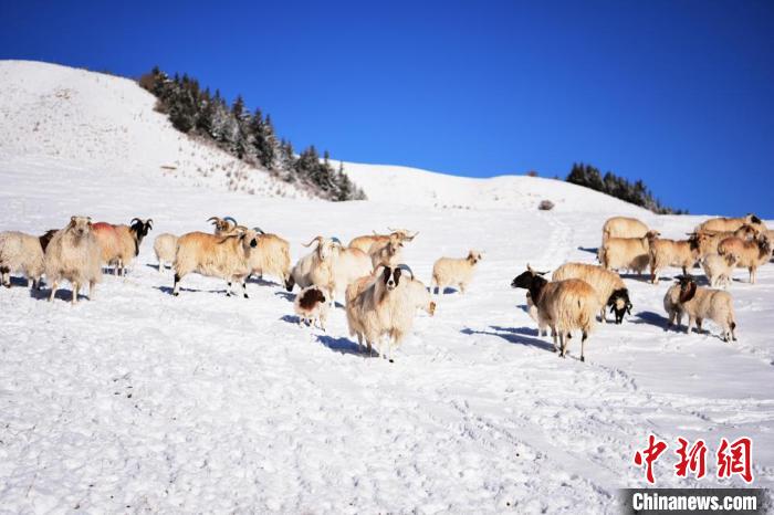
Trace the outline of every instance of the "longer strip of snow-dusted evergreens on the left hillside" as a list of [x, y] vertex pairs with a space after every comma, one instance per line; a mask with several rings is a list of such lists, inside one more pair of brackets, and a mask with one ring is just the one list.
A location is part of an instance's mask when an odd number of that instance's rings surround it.
[[278, 137], [271, 116], [260, 108], [250, 111], [241, 95], [229, 106], [219, 90], [202, 88], [187, 74], [170, 77], [155, 66], [139, 78], [139, 85], [156, 96], [156, 109], [169, 117], [185, 134], [210, 140], [232, 156], [272, 176], [328, 200], [363, 200], [362, 189], [312, 145], [295, 154], [291, 141]]

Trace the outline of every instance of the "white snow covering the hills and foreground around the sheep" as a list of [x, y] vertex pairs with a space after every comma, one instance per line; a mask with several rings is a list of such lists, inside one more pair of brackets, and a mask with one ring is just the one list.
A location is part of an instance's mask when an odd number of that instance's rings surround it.
[[[755, 285], [736, 272], [734, 344], [713, 324], [665, 332], [670, 281], [627, 276], [634, 316], [598, 326], [585, 364], [578, 341], [567, 359], [551, 351], [510, 287], [527, 262], [594, 262], [609, 216], [672, 238], [702, 217], [550, 179], [354, 164], [369, 201], [304, 199], [260, 171], [255, 195], [234, 192], [219, 167], [240, 164], [180, 137], [129, 81], [6, 61], [0, 87], [0, 230], [42, 233], [72, 214], [156, 221], [129, 275], [105, 276], [94, 301], [72, 307], [64, 286], [50, 304], [19, 278], [0, 291], [3, 509], [616, 513], [617, 488], [645, 485], [632, 456], [649, 433], [670, 444], [658, 486], [744, 486], [713, 477], [720, 438], [740, 435], [754, 441], [754, 485], [774, 485], [774, 266]], [[557, 207], [538, 211], [544, 198]], [[249, 299], [196, 275], [169, 295], [153, 238], [208, 230], [212, 214], [283, 235], [294, 260], [318, 233], [419, 230], [406, 261], [426, 283], [441, 255], [485, 259], [389, 364], [357, 351], [341, 307], [327, 333], [299, 327], [270, 277]], [[678, 437], [707, 441], [709, 477], [674, 477]]]

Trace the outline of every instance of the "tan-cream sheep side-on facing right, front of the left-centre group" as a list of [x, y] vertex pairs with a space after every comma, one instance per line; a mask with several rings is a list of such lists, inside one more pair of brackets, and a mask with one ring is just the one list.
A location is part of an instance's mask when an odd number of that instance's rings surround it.
[[234, 282], [242, 285], [242, 295], [248, 297], [244, 280], [250, 273], [250, 256], [258, 246], [258, 233], [248, 229], [242, 234], [216, 235], [189, 232], [177, 241], [175, 253], [175, 285], [172, 295], [180, 294], [180, 281], [191, 272], [220, 277], [227, 281], [227, 296], [231, 296]]

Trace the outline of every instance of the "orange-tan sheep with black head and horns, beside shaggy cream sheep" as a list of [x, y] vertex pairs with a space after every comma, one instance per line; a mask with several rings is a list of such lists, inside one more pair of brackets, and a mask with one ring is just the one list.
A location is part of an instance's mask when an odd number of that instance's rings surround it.
[[126, 267], [139, 254], [139, 245], [153, 229], [153, 222], [151, 219], [133, 218], [130, 225], [94, 223], [93, 232], [102, 250], [102, 262], [107, 266], [115, 265], [116, 275], [126, 275]]

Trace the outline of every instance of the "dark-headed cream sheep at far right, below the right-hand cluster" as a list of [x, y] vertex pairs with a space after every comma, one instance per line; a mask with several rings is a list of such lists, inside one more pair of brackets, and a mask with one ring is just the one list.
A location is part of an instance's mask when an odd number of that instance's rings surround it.
[[724, 341], [736, 340], [734, 306], [729, 292], [699, 287], [693, 277], [686, 275], [678, 278], [678, 287], [680, 294], [677, 304], [688, 315], [687, 333], [691, 332], [694, 323], [697, 329], [701, 332], [702, 322], [709, 318], [720, 325]]

